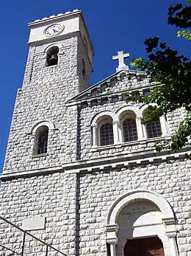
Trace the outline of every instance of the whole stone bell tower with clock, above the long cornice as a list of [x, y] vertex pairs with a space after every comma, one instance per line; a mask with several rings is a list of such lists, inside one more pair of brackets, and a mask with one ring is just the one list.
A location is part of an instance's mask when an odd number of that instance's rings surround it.
[[[4, 173], [78, 159], [78, 108], [66, 100], [90, 86], [93, 45], [82, 12], [29, 23], [29, 56], [18, 89]], [[70, 122], [69, 122], [70, 121]]]

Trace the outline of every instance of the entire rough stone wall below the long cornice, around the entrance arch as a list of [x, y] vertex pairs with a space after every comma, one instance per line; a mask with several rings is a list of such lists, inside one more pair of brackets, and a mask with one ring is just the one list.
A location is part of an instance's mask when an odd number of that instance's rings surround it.
[[[105, 227], [112, 203], [130, 190], [150, 190], [170, 203], [177, 219], [180, 256], [190, 256], [190, 167], [190, 160], [176, 159], [93, 173], [54, 173], [2, 182], [1, 215], [18, 226], [25, 218], [45, 217], [46, 229], [32, 234], [67, 255], [101, 256], [107, 253]], [[0, 238], [13, 246], [7, 227]], [[34, 255], [29, 252], [29, 256]]]

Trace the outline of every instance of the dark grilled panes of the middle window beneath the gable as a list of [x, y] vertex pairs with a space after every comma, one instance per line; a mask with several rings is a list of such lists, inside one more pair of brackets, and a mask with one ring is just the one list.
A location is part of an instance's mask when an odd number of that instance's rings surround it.
[[137, 140], [137, 125], [136, 120], [134, 118], [126, 118], [123, 121], [123, 141], [124, 142], [132, 142]]

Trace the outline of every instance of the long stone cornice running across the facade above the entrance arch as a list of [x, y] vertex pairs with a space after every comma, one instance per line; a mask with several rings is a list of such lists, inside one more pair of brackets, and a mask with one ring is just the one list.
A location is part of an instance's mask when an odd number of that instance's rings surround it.
[[99, 157], [88, 160], [80, 160], [75, 162], [66, 162], [62, 166], [48, 167], [43, 169], [26, 170], [21, 172], [2, 173], [0, 179], [11, 180], [24, 178], [29, 176], [48, 175], [51, 173], [64, 172], [66, 174], [80, 173], [80, 172], [92, 172], [102, 170], [118, 169], [133, 167], [136, 165], [153, 164], [154, 162], [164, 162], [167, 160], [176, 160], [185, 158], [191, 154], [190, 148], [185, 148], [179, 153], [173, 151], [162, 151], [158, 153], [154, 150], [149, 151], [136, 151], [134, 153], [119, 153], [118, 155], [112, 155], [107, 157]]

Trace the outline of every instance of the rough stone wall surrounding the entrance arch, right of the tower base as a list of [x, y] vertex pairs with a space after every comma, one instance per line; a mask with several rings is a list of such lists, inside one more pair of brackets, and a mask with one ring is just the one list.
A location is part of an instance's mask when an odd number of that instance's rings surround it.
[[80, 255], [106, 252], [105, 224], [112, 203], [129, 190], [159, 193], [177, 218], [180, 256], [191, 252], [190, 160], [84, 173], [80, 179]]

